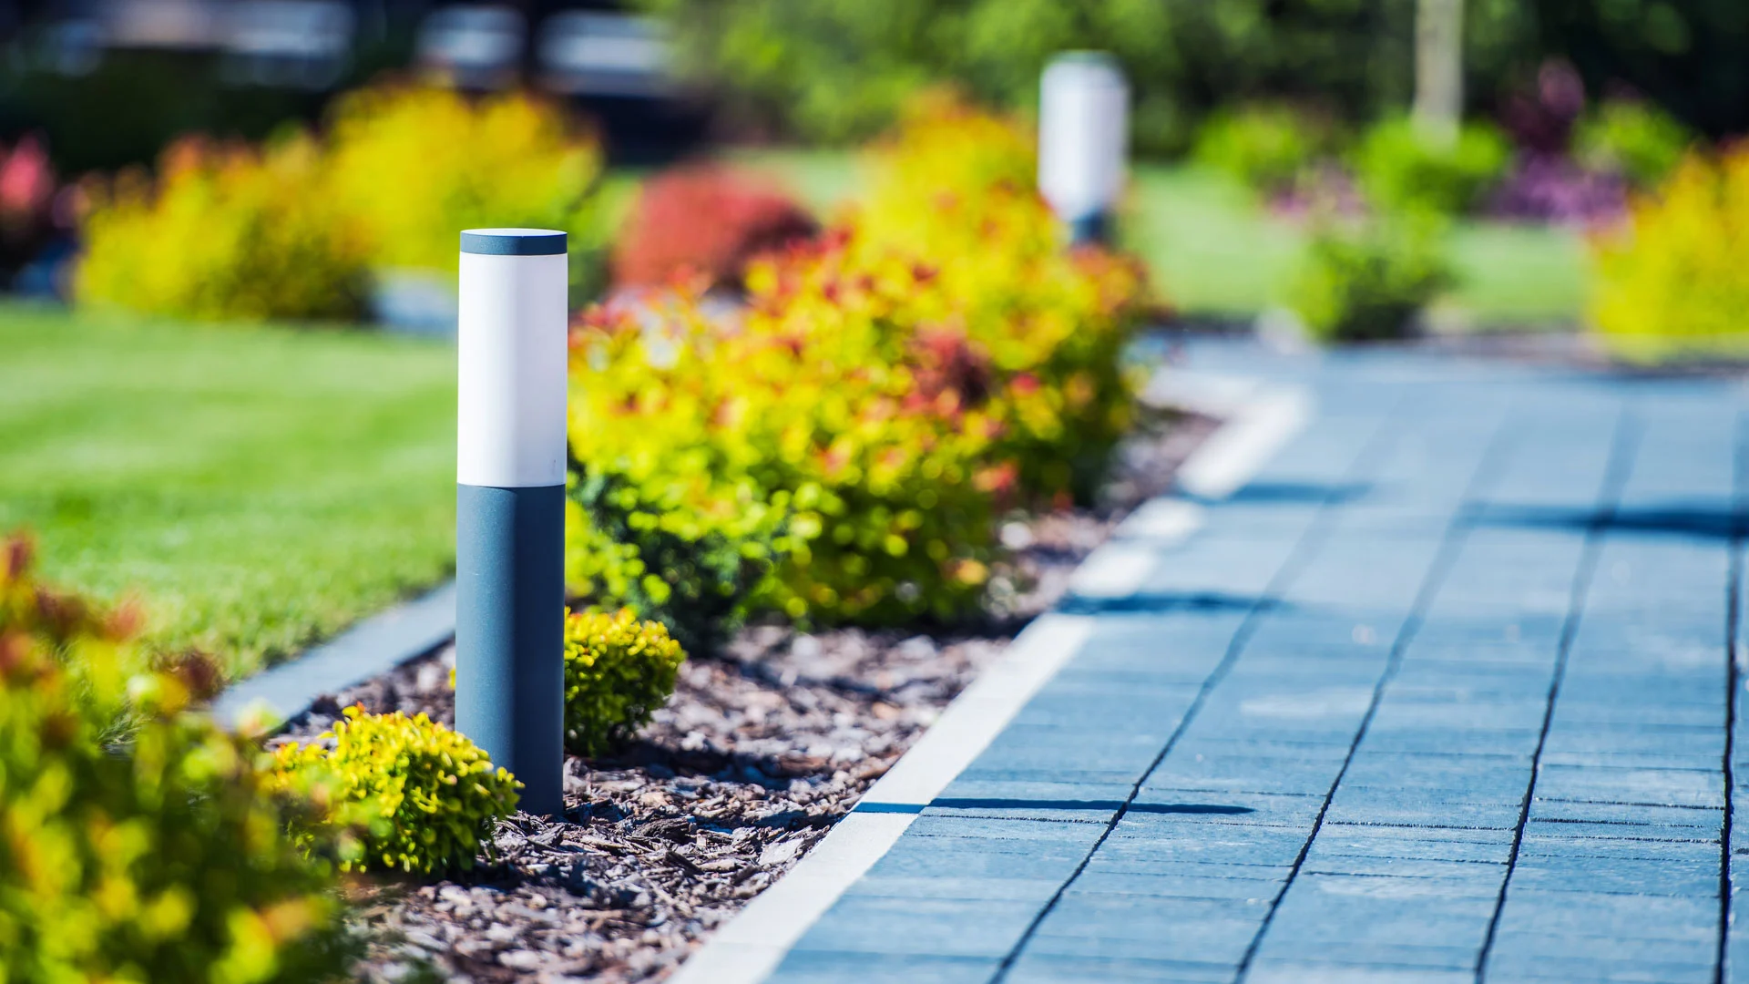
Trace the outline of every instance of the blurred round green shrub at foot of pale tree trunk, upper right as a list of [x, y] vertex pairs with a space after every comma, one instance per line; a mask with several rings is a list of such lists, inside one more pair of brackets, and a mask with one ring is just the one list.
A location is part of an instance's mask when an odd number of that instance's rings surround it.
[[1373, 126], [1354, 154], [1368, 200], [1385, 212], [1455, 215], [1474, 205], [1506, 170], [1511, 149], [1499, 128], [1466, 123], [1441, 147], [1403, 116]]

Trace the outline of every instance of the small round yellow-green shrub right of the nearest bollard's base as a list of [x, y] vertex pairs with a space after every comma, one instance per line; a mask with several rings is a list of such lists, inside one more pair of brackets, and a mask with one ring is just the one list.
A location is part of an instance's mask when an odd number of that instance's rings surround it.
[[673, 693], [686, 651], [631, 609], [565, 613], [565, 748], [603, 755]]

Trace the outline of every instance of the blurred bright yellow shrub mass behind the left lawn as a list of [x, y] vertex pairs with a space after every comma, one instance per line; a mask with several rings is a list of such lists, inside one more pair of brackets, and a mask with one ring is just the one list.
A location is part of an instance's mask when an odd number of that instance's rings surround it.
[[156, 180], [93, 184], [75, 298], [203, 320], [355, 319], [373, 270], [453, 270], [470, 226], [575, 231], [572, 278], [596, 282], [600, 172], [596, 142], [530, 95], [373, 86], [338, 100], [324, 138], [182, 142]]

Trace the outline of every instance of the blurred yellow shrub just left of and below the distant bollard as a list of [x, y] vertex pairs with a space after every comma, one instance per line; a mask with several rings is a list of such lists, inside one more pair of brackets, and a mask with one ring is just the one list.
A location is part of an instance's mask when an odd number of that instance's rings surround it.
[[1065, 250], [1035, 191], [1025, 126], [950, 98], [916, 103], [871, 154], [873, 193], [850, 221], [852, 266], [909, 264], [930, 282], [916, 322], [948, 324], [1020, 390], [999, 420], [1023, 497], [1088, 499], [1132, 424], [1123, 347], [1147, 310], [1128, 256]]

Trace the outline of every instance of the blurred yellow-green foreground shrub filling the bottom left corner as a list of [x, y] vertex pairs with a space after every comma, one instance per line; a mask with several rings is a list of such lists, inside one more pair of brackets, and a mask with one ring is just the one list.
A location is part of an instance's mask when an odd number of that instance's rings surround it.
[[128, 620], [44, 590], [23, 543], [0, 552], [7, 984], [338, 979], [332, 868], [285, 833], [299, 805], [187, 713], [182, 681], [128, 676], [136, 658]]

